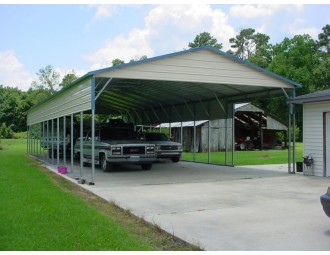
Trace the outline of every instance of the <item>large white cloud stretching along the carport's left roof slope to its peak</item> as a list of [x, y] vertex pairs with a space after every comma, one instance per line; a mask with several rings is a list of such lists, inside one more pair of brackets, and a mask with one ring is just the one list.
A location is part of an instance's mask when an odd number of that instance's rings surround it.
[[111, 66], [116, 58], [127, 62], [142, 55], [153, 57], [187, 48], [204, 31], [223, 43], [224, 50], [229, 48], [229, 38], [235, 36], [228, 16], [220, 9], [212, 10], [209, 5], [159, 5], [144, 18], [143, 28], [132, 28], [108, 40], [84, 58], [92, 63], [92, 69], [97, 69]]

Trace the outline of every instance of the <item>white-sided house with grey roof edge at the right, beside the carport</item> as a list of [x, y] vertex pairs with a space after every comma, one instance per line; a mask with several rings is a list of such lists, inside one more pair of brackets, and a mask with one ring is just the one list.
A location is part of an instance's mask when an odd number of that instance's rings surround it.
[[304, 156], [313, 159], [309, 174], [330, 176], [330, 89], [287, 101], [303, 105]]

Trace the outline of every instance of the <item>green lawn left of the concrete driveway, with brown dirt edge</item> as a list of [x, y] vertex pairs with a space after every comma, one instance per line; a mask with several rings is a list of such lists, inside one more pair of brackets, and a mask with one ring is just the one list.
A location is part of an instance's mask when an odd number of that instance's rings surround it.
[[0, 250], [196, 250], [25, 155], [25, 140], [0, 140]]

